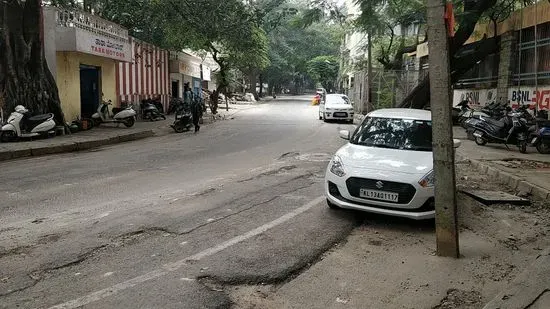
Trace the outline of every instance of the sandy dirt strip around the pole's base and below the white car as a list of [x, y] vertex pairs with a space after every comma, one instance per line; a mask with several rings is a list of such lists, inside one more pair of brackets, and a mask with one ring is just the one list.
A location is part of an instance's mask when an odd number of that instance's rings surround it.
[[[510, 192], [470, 164], [458, 165], [457, 176], [459, 187]], [[536, 203], [485, 206], [465, 194], [457, 199], [460, 259], [436, 256], [433, 221], [368, 214], [346, 243], [296, 278], [273, 286], [225, 285], [224, 290], [238, 309], [363, 308], [364, 304], [482, 308], [550, 246], [550, 210]]]

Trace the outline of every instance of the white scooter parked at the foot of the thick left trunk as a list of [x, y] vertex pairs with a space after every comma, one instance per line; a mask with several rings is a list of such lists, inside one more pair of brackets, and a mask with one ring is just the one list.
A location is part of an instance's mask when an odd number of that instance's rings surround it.
[[23, 105], [17, 105], [8, 122], [2, 126], [0, 140], [16, 141], [19, 138], [54, 135], [55, 120], [52, 113], [30, 117], [30, 111]]

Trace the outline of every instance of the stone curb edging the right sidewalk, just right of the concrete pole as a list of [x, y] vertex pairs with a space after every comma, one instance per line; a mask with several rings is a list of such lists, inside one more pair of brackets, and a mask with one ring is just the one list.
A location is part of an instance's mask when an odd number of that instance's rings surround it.
[[483, 161], [470, 159], [458, 152], [456, 153], [456, 159], [457, 161], [469, 161], [470, 164], [472, 164], [473, 167], [477, 168], [479, 172], [496, 179], [503, 185], [509, 186], [516, 192], [530, 194], [533, 198], [537, 200], [550, 199], [550, 190], [525, 181], [521, 177], [515, 176], [513, 174], [485, 164], [483, 163]]

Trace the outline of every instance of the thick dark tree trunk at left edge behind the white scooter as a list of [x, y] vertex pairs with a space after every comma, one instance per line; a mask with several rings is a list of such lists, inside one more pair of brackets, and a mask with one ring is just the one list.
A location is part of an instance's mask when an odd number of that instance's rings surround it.
[[41, 39], [41, 1], [0, 2], [0, 96], [6, 113], [23, 105], [33, 114], [53, 113], [65, 125], [55, 80]]

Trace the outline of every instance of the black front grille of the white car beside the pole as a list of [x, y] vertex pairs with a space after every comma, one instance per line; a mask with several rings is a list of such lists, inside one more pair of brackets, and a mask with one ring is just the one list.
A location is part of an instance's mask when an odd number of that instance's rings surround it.
[[[399, 199], [396, 204], [407, 204], [409, 203], [414, 195], [416, 194], [416, 189], [408, 183], [393, 182], [383, 180], [383, 187], [378, 188], [376, 183], [378, 179], [367, 179], [367, 178], [357, 178], [351, 177], [346, 180], [346, 185], [348, 187], [349, 194], [353, 197], [361, 198], [364, 200], [369, 200], [367, 198], [361, 197], [359, 191], [361, 189], [377, 190], [398, 193]], [[392, 203], [392, 202], [387, 202]]]

